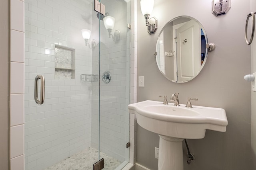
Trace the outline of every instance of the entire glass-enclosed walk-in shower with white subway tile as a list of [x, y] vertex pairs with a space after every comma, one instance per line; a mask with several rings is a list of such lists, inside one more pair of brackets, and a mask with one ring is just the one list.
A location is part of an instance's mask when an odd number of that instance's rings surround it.
[[[100, 3], [105, 16], [93, 0], [25, 0], [26, 170], [92, 170], [103, 159], [105, 170], [120, 170], [128, 163], [130, 1]], [[109, 38], [106, 16], [114, 17], [118, 39]], [[89, 45], [82, 29], [91, 32]], [[37, 80], [43, 104], [34, 100], [36, 77], [44, 77], [44, 85]]]

